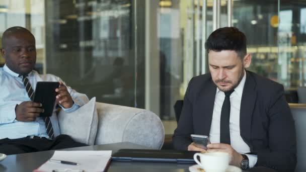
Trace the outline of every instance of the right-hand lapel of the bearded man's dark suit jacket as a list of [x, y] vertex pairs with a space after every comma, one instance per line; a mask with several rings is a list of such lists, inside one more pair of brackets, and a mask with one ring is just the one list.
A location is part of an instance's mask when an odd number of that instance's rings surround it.
[[243, 89], [240, 107], [240, 135], [250, 146], [252, 116], [256, 103], [257, 92], [255, 90], [256, 82], [254, 80], [254, 76], [249, 71], [246, 71], [246, 74], [247, 78]]

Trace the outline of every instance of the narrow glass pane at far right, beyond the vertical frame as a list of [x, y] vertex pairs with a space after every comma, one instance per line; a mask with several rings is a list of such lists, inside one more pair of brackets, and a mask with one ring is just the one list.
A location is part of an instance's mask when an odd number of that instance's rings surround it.
[[[280, 1], [278, 27], [278, 81], [286, 88], [305, 87], [306, 33], [304, 1]], [[305, 96], [305, 95], [304, 95]]]

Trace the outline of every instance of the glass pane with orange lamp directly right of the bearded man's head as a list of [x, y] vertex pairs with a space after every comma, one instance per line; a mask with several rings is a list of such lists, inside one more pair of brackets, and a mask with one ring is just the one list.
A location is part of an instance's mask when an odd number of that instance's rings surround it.
[[278, 79], [278, 2], [234, 1], [233, 26], [246, 34], [250, 70]]

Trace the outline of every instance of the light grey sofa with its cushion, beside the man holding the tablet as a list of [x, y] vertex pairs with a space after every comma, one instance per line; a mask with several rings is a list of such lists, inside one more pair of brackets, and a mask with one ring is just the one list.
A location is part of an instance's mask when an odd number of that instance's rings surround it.
[[156, 114], [95, 98], [72, 113], [60, 111], [58, 121], [62, 134], [89, 145], [132, 142], [161, 149], [164, 143], [164, 126]]

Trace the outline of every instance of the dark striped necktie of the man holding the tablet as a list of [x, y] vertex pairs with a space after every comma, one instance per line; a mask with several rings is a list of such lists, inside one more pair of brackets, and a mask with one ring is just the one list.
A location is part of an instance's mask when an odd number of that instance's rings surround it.
[[[29, 82], [29, 79], [27, 78], [27, 76], [28, 75], [22, 75], [22, 81], [23, 81], [23, 84], [25, 85], [26, 91], [27, 91], [31, 101], [33, 101], [35, 94], [34, 94], [31, 83]], [[54, 138], [54, 133], [53, 133], [52, 123], [50, 121], [50, 118], [49, 117], [42, 117], [42, 118], [45, 122], [45, 126], [46, 126], [47, 133], [48, 133], [49, 137], [51, 139], [53, 139]]]

